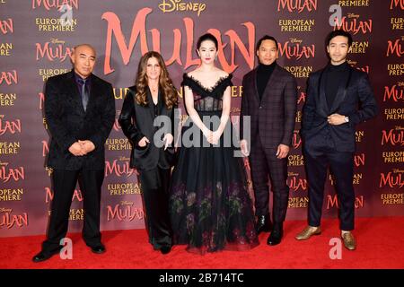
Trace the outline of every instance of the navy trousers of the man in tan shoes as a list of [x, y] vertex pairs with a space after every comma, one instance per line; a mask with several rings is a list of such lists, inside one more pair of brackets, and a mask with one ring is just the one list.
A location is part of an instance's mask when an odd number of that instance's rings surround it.
[[321, 224], [324, 184], [329, 168], [334, 176], [338, 195], [339, 228], [354, 230], [354, 152], [336, 151], [330, 135], [327, 131], [322, 131], [304, 141], [303, 155], [309, 183], [309, 225]]

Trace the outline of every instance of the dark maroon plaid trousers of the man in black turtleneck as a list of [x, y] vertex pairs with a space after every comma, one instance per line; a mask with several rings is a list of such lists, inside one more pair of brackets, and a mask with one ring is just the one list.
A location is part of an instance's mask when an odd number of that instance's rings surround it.
[[269, 187], [273, 192], [272, 220], [284, 222], [289, 200], [287, 179], [287, 158], [277, 159], [277, 149], [265, 148], [259, 138], [251, 140], [250, 169], [255, 194], [257, 216], [269, 213]]

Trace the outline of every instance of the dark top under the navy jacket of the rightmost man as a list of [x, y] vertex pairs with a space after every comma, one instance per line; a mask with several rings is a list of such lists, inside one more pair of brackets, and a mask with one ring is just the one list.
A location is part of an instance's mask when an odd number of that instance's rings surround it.
[[345, 78], [348, 67], [347, 61], [345, 61], [339, 65], [329, 64], [325, 70], [325, 93], [329, 109], [331, 109], [332, 103], [337, 96], [338, 86], [342, 79]]

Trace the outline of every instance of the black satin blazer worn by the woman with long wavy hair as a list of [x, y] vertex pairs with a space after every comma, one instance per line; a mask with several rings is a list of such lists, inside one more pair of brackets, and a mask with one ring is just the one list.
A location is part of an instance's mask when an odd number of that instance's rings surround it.
[[[175, 107], [167, 109], [165, 104], [162, 104], [160, 115], [163, 116], [161, 118], [164, 119], [164, 122], [154, 126], [154, 104], [150, 90], [147, 89], [147, 106], [136, 103], [135, 96], [136, 86], [132, 86], [127, 91], [119, 116], [119, 125], [132, 144], [130, 167], [137, 170], [153, 170], [157, 166], [162, 169], [170, 169], [175, 161], [175, 151], [173, 144], [164, 151], [162, 138], [167, 133], [174, 135]], [[162, 99], [162, 97], [159, 98]], [[159, 134], [156, 135], [157, 132]], [[156, 135], [156, 142], [154, 142], [154, 135]], [[147, 143], [145, 147], [140, 147], [138, 143], [144, 136], [149, 139], [150, 143]], [[162, 147], [158, 148], [156, 143]]]

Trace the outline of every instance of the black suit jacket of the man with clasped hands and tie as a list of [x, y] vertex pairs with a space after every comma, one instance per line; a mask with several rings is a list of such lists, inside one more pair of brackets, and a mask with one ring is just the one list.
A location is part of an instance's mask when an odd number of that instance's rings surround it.
[[[91, 75], [91, 91], [84, 111], [73, 70], [48, 78], [45, 117], [50, 132], [48, 167], [57, 170], [103, 170], [104, 143], [115, 121], [112, 85]], [[84, 156], [68, 151], [78, 140], [90, 140], [95, 150]]]

